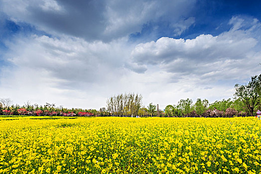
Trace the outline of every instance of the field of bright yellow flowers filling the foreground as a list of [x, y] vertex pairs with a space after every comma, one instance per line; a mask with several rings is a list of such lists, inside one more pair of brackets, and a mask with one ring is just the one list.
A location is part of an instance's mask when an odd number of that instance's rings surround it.
[[0, 174], [259, 174], [260, 131], [254, 117], [0, 118]]

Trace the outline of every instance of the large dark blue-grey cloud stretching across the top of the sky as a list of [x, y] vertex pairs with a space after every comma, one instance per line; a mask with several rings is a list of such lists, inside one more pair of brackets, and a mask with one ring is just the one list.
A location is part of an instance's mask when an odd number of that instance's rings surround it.
[[[194, 3], [195, 0], [9, 0], [0, 5], [10, 20], [32, 24], [55, 36], [108, 42], [140, 32], [143, 24], [150, 21], [166, 20], [173, 25], [187, 21]], [[177, 33], [186, 25], [180, 26]]]

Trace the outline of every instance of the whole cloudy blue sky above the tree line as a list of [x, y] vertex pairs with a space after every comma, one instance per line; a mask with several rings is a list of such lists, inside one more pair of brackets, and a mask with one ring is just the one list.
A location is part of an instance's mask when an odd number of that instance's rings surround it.
[[261, 74], [260, 0], [0, 0], [0, 98], [106, 107], [234, 97]]

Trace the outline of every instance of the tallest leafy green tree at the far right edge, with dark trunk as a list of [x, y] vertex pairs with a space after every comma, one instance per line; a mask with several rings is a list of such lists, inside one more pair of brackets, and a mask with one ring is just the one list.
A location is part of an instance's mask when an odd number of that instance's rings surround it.
[[250, 115], [254, 116], [254, 109], [260, 104], [261, 75], [251, 77], [251, 81], [247, 85], [236, 84], [234, 95], [245, 103]]

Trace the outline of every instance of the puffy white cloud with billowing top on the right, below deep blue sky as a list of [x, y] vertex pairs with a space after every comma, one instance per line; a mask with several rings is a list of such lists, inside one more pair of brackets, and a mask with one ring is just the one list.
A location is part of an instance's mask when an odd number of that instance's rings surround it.
[[199, 80], [198, 84], [250, 77], [259, 72], [261, 52], [259, 38], [249, 31], [253, 27], [260, 31], [260, 22], [242, 29], [244, 25], [235, 22], [236, 19], [242, 21], [233, 17], [232, 29], [218, 36], [202, 34], [187, 40], [162, 37], [156, 42], [139, 44], [132, 50], [131, 60], [139, 66], [158, 66], [161, 71], [172, 73], [173, 82], [192, 75]]

